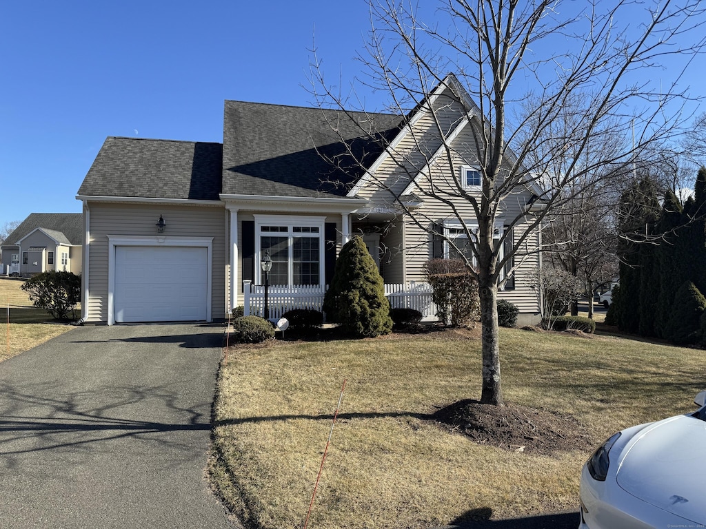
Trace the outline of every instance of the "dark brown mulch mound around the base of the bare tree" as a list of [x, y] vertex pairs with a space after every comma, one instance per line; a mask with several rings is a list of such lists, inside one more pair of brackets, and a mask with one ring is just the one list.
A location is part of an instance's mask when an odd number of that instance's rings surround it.
[[515, 452], [551, 454], [590, 449], [594, 444], [573, 415], [514, 403], [491, 406], [466, 399], [441, 408], [431, 415], [431, 420], [478, 444]]

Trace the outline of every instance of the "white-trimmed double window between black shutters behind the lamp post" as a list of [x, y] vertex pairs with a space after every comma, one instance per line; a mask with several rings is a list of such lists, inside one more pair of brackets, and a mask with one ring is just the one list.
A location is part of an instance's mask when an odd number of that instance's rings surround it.
[[259, 260], [269, 252], [273, 262], [270, 284], [323, 286], [324, 220], [324, 217], [256, 215], [255, 268], [260, 282], [265, 278]]

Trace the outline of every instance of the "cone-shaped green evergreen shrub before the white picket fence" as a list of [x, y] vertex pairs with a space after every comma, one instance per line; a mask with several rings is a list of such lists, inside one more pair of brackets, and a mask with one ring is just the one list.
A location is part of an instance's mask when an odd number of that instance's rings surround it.
[[359, 236], [341, 249], [323, 311], [329, 322], [357, 336], [372, 338], [393, 329], [383, 278]]

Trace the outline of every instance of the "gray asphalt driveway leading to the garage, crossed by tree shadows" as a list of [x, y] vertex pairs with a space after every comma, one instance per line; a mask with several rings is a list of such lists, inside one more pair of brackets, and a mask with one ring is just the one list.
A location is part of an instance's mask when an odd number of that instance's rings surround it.
[[0, 363], [0, 527], [237, 527], [204, 471], [221, 339], [77, 327]]

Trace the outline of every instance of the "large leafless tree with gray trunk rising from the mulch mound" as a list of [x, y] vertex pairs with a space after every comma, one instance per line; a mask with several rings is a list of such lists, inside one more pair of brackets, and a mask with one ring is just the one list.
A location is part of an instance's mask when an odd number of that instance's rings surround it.
[[[705, 8], [698, 0], [441, 0], [433, 12], [428, 3], [371, 0], [369, 5], [371, 31], [366, 54], [359, 56], [364, 75], [350, 89], [330, 85], [315, 52], [312, 90], [321, 107], [343, 113], [370, 110], [357, 97], [364, 87], [383, 91], [385, 110], [404, 119], [411, 119], [415, 105], [431, 116], [439, 147], [429, 150], [428, 138], [415, 138], [412, 155], [398, 150], [385, 130], [375, 130], [372, 116], [361, 121], [347, 114], [359, 123], [361, 135], [378, 140], [395, 160], [400, 180], [413, 186], [415, 195], [447, 205], [474, 241], [467, 264], [474, 261], [481, 300], [481, 402], [501, 405], [496, 298], [505, 265], [540, 250], [530, 245], [548, 214], [570, 208], [577, 193], [602, 189], [596, 186], [628, 171], [643, 150], [674, 134], [686, 94], [678, 91], [677, 79], [669, 85], [663, 77], [655, 84], [650, 79], [657, 75], [639, 74], [699, 53]], [[454, 95], [452, 104], [472, 123], [473, 159], [463, 159], [453, 141], [456, 128], [443, 122], [443, 109], [428, 97], [438, 86]], [[621, 141], [615, 149], [593, 150], [606, 135]], [[349, 157], [367, 169], [354, 147]], [[437, 167], [424, 170], [429, 164]], [[461, 164], [479, 166], [481, 193], [460, 185], [455, 175]], [[436, 185], [440, 178], [453, 189], [454, 200], [465, 199], [474, 226]], [[370, 184], [390, 193], [420, 229], [431, 230], [433, 219], [415, 215], [398, 186], [374, 175]], [[520, 212], [504, 220], [511, 229], [494, 238], [503, 204], [517, 200], [517, 190], [527, 186], [539, 190], [536, 200], [520, 204]], [[510, 233], [515, 245], [503, 253]], [[445, 238], [455, 248], [454, 238]]]

